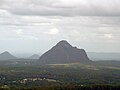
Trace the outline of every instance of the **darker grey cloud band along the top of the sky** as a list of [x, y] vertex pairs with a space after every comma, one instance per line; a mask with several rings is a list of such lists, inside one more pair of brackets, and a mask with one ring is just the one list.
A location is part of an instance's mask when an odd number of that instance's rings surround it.
[[119, 0], [4, 0], [0, 3], [1, 9], [17, 15], [120, 16]]

